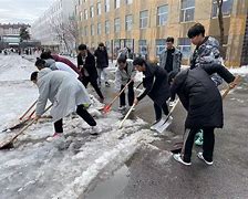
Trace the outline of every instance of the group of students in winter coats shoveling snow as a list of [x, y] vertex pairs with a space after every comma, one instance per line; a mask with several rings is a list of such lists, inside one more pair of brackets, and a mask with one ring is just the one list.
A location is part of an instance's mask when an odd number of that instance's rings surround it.
[[[190, 165], [195, 135], [202, 132], [203, 153], [199, 153], [198, 157], [211, 165], [214, 129], [221, 128], [224, 124], [221, 96], [217, 86], [224, 78], [230, 87], [234, 87], [235, 76], [220, 64], [218, 42], [211, 36], [205, 36], [204, 25], [200, 23], [193, 25], [188, 31], [188, 38], [196, 45], [189, 69], [180, 72], [182, 53], [174, 48], [174, 39], [167, 38], [167, 46], [161, 54], [159, 66], [142, 57], [131, 61], [125, 53], [121, 54], [117, 57], [115, 85], [121, 91], [128, 84], [126, 87], [130, 106], [137, 105], [146, 95], [152, 98], [156, 117], [152, 129], [163, 117], [167, 117], [167, 101], [170, 97], [173, 102], [177, 94], [188, 114], [185, 122], [186, 142], [183, 151], [174, 155], [174, 158], [184, 165]], [[100, 48], [100, 51], [103, 50], [102, 44]], [[100, 52], [95, 52], [96, 56], [97, 53]], [[102, 54], [101, 57], [101, 63], [96, 59], [96, 65], [102, 64], [106, 67], [107, 56]], [[63, 64], [66, 64], [66, 67]], [[95, 57], [86, 45], [79, 46], [78, 67], [66, 59], [52, 55], [50, 52], [41, 54], [35, 65], [40, 72], [33, 72], [31, 81], [38, 85], [40, 93], [37, 119], [50, 100], [53, 103], [51, 115], [55, 122], [55, 135], [63, 133], [62, 118], [72, 112], [76, 112], [90, 126], [96, 126], [96, 122], [86, 111], [91, 101], [85, 87], [91, 83], [100, 98], [104, 97], [97, 83]], [[134, 95], [136, 71], [143, 73], [145, 88], [137, 97]], [[120, 109], [124, 109], [125, 106], [125, 93], [123, 93], [120, 96]]]

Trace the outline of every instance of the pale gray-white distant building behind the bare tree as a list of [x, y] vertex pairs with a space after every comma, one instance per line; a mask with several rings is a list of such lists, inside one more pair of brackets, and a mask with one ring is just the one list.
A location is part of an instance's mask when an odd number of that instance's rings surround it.
[[75, 49], [75, 38], [71, 35], [70, 20], [74, 15], [72, 0], [55, 0], [54, 3], [32, 24], [33, 39], [43, 48], [70, 53]]

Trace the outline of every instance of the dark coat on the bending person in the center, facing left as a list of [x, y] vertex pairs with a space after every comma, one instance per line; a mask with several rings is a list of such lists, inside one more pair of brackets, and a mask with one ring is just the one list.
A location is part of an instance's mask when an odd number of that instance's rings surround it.
[[162, 106], [169, 97], [169, 85], [167, 72], [157, 65], [146, 64], [143, 72], [143, 85], [145, 91], [137, 97], [138, 101], [148, 95], [154, 103]]

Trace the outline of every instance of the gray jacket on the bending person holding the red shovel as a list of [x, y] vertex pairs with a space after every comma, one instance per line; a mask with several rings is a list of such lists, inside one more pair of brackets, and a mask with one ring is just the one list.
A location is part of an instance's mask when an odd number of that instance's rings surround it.
[[136, 75], [136, 71], [134, 69], [132, 61], [126, 61], [127, 63], [127, 72], [125, 70], [117, 70], [115, 71], [115, 88], [120, 90], [121, 85], [125, 85], [128, 80], [134, 78]]

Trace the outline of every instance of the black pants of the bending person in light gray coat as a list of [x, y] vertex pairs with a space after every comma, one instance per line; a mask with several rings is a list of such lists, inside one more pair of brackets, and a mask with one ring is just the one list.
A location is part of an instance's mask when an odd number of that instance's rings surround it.
[[[81, 116], [90, 126], [96, 126], [95, 119], [87, 113], [83, 105], [76, 107], [76, 114]], [[59, 119], [54, 123], [55, 133], [63, 133], [63, 119]]]

